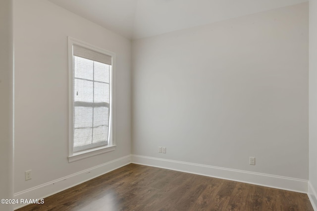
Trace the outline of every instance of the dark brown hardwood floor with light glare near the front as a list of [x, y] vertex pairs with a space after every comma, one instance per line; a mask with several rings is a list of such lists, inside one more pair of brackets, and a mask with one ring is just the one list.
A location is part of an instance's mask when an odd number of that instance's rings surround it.
[[18, 211], [314, 211], [306, 194], [129, 164]]

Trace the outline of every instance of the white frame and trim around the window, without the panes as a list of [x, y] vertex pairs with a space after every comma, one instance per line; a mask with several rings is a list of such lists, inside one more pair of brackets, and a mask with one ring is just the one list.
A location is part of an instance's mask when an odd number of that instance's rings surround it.
[[[109, 139], [108, 145], [102, 147], [96, 147], [93, 149], [81, 151], [81, 152], [73, 152], [73, 131], [74, 131], [74, 123], [73, 123], [73, 96], [74, 96], [74, 76], [73, 76], [73, 45], [76, 44], [78, 46], [100, 52], [106, 55], [111, 56], [112, 65], [110, 68], [110, 115], [109, 115]], [[74, 38], [68, 37], [68, 123], [69, 123], [69, 131], [68, 131], [68, 162], [74, 162], [77, 160], [81, 160], [84, 158], [92, 157], [95, 155], [103, 154], [106, 152], [111, 152], [115, 150], [115, 53], [99, 48], [97, 46], [91, 45], [86, 42], [82, 42], [76, 40]]]

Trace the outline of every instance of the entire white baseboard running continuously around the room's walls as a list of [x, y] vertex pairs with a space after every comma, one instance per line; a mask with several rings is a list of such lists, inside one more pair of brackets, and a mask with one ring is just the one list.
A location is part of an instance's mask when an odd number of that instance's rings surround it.
[[[300, 193], [309, 192], [308, 196], [311, 200], [314, 210], [317, 211], [317, 194], [312, 185], [307, 180], [138, 155], [128, 155], [107, 162], [105, 164], [79, 171], [77, 173], [59, 178], [57, 180], [15, 193], [13, 198], [43, 199], [55, 193], [66, 190], [70, 187], [103, 175], [114, 169], [126, 166], [130, 163], [211, 176], [215, 178], [228, 179], [232, 181], [245, 182], [249, 184], [256, 184]], [[26, 205], [27, 204], [15, 204], [14, 210]]]

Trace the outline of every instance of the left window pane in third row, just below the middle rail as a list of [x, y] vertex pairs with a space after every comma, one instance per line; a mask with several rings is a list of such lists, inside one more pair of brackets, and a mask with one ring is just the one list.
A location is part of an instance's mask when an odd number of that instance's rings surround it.
[[74, 107], [74, 128], [93, 127], [93, 108]]

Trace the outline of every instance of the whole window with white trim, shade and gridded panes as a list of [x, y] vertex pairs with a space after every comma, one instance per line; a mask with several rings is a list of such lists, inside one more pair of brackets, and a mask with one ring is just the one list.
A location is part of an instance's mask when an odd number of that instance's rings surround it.
[[76, 161], [114, 150], [115, 54], [68, 38], [69, 156]]

